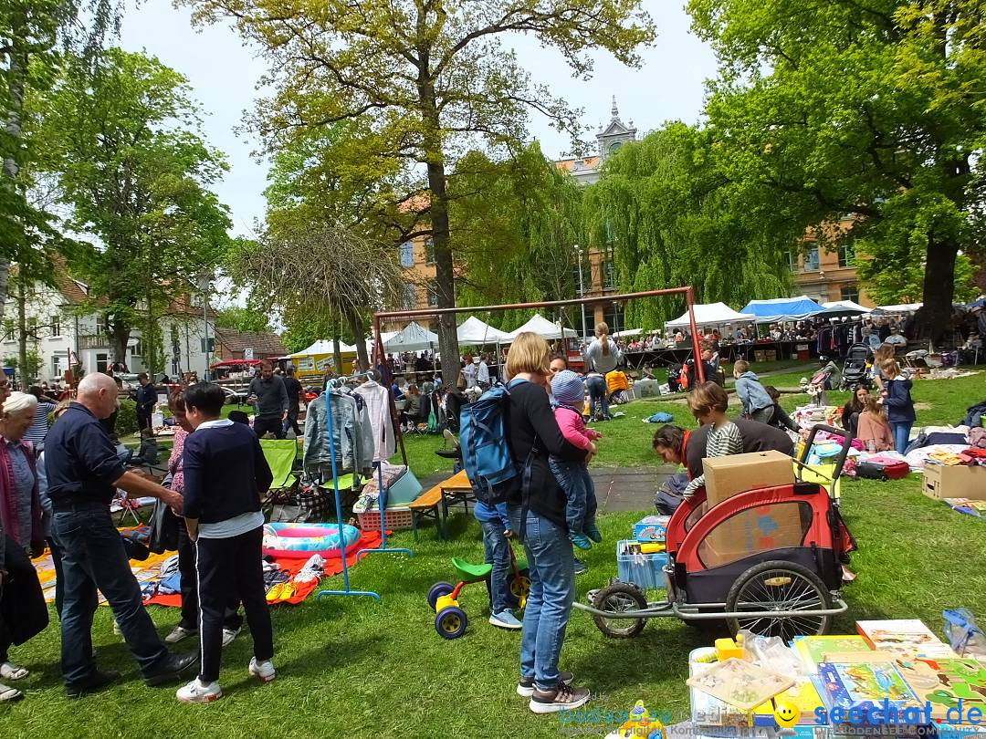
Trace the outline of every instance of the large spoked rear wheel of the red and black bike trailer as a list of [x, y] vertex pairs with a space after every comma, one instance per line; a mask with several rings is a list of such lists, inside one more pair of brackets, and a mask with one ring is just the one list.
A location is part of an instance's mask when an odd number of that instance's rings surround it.
[[763, 562], [740, 574], [726, 597], [726, 610], [785, 611], [775, 618], [728, 617], [730, 632], [746, 629], [763, 637], [780, 637], [788, 643], [799, 636], [828, 632], [831, 616], [799, 616], [799, 611], [822, 611], [832, 607], [828, 589], [818, 575], [791, 562]]

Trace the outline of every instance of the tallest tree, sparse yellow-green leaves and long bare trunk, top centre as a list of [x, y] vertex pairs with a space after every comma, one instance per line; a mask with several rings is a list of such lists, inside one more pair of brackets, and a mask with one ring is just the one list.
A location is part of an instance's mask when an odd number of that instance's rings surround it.
[[[502, 39], [532, 34], [588, 77], [590, 49], [636, 65], [635, 49], [654, 37], [638, 0], [182, 2], [200, 22], [232, 19], [265, 50], [276, 93], [258, 106], [256, 126], [268, 139], [345, 121], [351, 135], [334, 158], [337, 169], [366, 179], [425, 169], [420, 215], [434, 239], [440, 307], [456, 304], [447, 170], [457, 153], [479, 139], [502, 152], [516, 149], [528, 108], [559, 128], [578, 128], [576, 113], [533, 85]], [[439, 338], [442, 356], [458, 357], [451, 315], [440, 321]]]

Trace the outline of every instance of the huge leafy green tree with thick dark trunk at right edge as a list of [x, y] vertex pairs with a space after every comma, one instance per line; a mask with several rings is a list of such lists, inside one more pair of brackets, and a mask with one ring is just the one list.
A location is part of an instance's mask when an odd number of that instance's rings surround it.
[[950, 339], [956, 257], [983, 242], [981, 4], [691, 0], [689, 11], [721, 60], [707, 114], [728, 175], [796, 198], [806, 226], [855, 214], [860, 253], [923, 252], [922, 329]]

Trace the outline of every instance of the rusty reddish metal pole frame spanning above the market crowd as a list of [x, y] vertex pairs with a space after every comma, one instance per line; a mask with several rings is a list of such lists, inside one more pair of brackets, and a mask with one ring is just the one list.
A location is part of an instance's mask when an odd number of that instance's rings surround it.
[[[702, 355], [698, 345], [698, 326], [695, 323], [695, 291], [688, 285], [683, 288], [665, 288], [663, 290], [648, 290], [642, 293], [624, 293], [622, 295], [607, 296], [604, 300], [612, 302], [638, 301], [644, 298], [660, 298], [662, 296], [683, 295], [688, 309], [688, 328], [691, 331], [691, 350], [695, 358], [695, 373], [699, 382], [705, 381], [705, 369], [702, 367]], [[585, 306], [594, 302], [599, 302], [599, 297], [574, 298], [567, 301], [542, 301], [542, 302], [516, 302], [504, 305], [469, 305], [451, 308], [410, 308], [405, 310], [378, 310], [373, 314], [374, 332], [374, 362], [384, 364], [384, 342], [381, 339], [381, 321], [391, 318], [431, 318], [436, 315], [458, 315], [458, 313], [478, 312], [481, 310], [527, 310], [528, 308], [539, 307], [563, 307], [567, 305]], [[583, 310], [585, 318], [585, 310]], [[583, 339], [585, 340], [585, 338]], [[443, 361], [448, 361], [443, 358]], [[458, 360], [456, 360], [458, 361]], [[400, 455], [407, 464], [407, 452], [404, 450], [404, 437], [400, 432], [400, 424], [397, 423], [396, 408], [393, 403], [393, 395], [390, 394], [390, 416], [394, 426], [394, 433], [400, 443]]]

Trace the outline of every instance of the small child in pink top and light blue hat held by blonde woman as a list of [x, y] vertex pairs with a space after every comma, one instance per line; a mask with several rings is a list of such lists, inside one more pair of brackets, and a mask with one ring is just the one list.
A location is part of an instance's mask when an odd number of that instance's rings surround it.
[[[596, 453], [594, 441], [599, 433], [587, 429], [582, 419], [585, 387], [582, 377], [571, 370], [562, 370], [551, 378], [551, 393], [554, 395], [555, 421], [565, 440], [580, 449]], [[568, 503], [565, 505], [565, 521], [568, 523], [568, 536], [579, 549], [591, 549], [593, 541], [602, 541], [596, 526], [596, 487], [589, 475], [585, 462], [563, 461], [550, 457], [548, 464], [558, 485], [565, 491]]]

